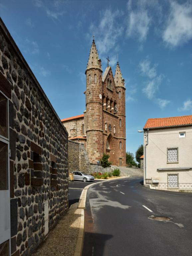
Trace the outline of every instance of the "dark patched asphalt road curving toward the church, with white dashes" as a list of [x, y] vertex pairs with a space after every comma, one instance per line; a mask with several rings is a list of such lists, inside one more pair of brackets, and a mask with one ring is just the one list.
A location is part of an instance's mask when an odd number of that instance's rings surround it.
[[192, 255], [192, 195], [150, 190], [141, 181], [113, 180], [88, 190], [83, 256]]

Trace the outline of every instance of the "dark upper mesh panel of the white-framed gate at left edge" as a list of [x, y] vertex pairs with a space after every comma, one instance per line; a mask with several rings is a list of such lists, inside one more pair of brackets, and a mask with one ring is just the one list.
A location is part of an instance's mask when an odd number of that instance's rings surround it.
[[8, 102], [0, 93], [0, 135], [8, 138]]

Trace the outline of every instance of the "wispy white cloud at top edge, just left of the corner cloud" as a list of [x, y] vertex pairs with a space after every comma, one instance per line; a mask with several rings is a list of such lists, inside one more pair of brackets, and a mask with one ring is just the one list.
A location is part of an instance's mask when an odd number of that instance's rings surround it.
[[151, 17], [147, 10], [147, 1], [137, 1], [135, 9], [132, 8], [132, 1], [129, 0], [128, 25], [126, 30], [127, 37], [136, 37], [139, 41], [146, 40], [147, 33], [151, 24]]

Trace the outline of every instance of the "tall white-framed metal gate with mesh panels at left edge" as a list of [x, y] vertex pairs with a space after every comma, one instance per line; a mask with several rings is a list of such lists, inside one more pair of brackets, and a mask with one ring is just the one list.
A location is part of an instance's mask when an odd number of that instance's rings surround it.
[[8, 113], [8, 99], [0, 92], [0, 256], [7, 256], [10, 252]]

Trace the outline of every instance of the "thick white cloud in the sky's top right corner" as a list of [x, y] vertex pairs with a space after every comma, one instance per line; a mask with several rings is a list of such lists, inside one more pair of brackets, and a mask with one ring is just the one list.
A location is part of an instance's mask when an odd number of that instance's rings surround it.
[[192, 39], [192, 2], [178, 4], [171, 1], [170, 8], [162, 37], [167, 45], [176, 47]]

